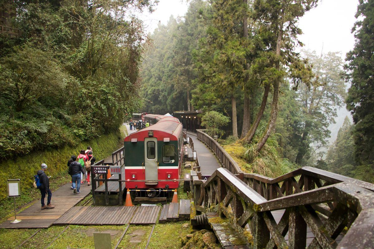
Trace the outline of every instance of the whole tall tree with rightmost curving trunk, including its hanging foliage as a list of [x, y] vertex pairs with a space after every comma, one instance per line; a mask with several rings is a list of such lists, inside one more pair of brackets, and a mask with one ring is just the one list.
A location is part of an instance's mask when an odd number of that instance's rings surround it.
[[257, 143], [257, 152], [261, 151], [267, 138], [275, 129], [278, 116], [279, 84], [283, 77], [289, 72], [289, 76], [295, 79], [296, 84], [301, 80], [308, 83], [307, 80], [310, 77], [308, 70], [305, 70], [304, 63], [294, 52], [294, 47], [295, 42], [301, 44], [297, 40], [297, 35], [302, 33], [297, 27], [298, 19], [316, 3], [317, 0], [256, 0], [254, 3], [254, 17], [260, 21], [261, 32], [267, 34], [264, 35], [266, 37], [264, 42], [268, 44], [270, 69], [273, 72], [271, 76], [272, 108], [267, 128]]

